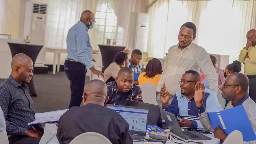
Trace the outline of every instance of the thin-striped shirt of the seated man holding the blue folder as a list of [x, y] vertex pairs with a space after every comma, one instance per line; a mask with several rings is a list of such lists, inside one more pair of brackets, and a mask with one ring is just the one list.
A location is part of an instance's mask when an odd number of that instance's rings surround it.
[[[227, 104], [227, 107], [225, 107], [225, 109], [230, 109], [234, 106], [239, 106], [241, 104], [244, 106], [245, 112], [252, 124], [254, 133], [256, 134], [256, 103], [249, 97], [249, 94], [246, 94], [242, 99], [240, 99], [235, 104], [232, 104], [232, 102], [230, 101]], [[201, 121], [201, 124], [208, 132], [214, 132], [211, 122], [209, 120], [208, 114], [207, 114], [208, 111], [202, 109], [201, 112], [202, 112], [201, 114], [199, 112], [199, 119]], [[256, 140], [250, 141], [250, 142], [244, 141], [244, 143], [256, 144]]]

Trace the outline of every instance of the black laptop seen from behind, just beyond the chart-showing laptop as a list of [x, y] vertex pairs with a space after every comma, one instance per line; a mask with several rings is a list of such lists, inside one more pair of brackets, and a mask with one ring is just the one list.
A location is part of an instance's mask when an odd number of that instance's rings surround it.
[[149, 109], [148, 125], [157, 125], [158, 127], [163, 128], [163, 122], [162, 122], [161, 113], [158, 105], [133, 101], [129, 99], [126, 100], [124, 105], [132, 106], [132, 107], [144, 107]]

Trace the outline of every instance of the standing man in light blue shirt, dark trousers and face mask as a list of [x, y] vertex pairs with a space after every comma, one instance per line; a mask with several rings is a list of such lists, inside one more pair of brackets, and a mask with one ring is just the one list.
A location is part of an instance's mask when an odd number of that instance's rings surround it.
[[94, 68], [93, 48], [91, 46], [88, 29], [95, 24], [94, 14], [91, 11], [84, 11], [78, 21], [68, 31], [67, 35], [67, 58], [64, 63], [64, 71], [70, 80], [71, 98], [69, 107], [80, 106], [82, 102], [83, 88], [85, 85], [86, 66], [98, 76], [103, 73]]

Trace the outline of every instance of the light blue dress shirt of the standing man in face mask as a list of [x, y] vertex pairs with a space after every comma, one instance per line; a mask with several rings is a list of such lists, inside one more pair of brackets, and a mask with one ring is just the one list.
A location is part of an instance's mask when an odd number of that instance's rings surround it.
[[88, 27], [78, 21], [68, 30], [67, 35], [67, 58], [79, 61], [88, 68], [93, 67], [93, 48], [88, 35]]

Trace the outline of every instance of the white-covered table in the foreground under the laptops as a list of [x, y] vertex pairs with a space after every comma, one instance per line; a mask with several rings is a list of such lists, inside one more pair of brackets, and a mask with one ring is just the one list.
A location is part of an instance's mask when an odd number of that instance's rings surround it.
[[[58, 139], [56, 137], [56, 134], [57, 134], [57, 126], [55, 124], [45, 124], [45, 127], [44, 127], [44, 134], [40, 140], [40, 144], [59, 144], [58, 142]], [[169, 129], [167, 130], [164, 130], [165, 132], [170, 132]], [[171, 132], [170, 132], [171, 133]], [[171, 135], [175, 135], [173, 133], [171, 133]], [[207, 137], [210, 137], [212, 138], [211, 140], [191, 140], [191, 141], [194, 141], [194, 142], [202, 142], [204, 144], [215, 144], [215, 143], [220, 143], [220, 140], [218, 138], [215, 138], [214, 137], [214, 134], [211, 133], [211, 134], [204, 134], [206, 135]], [[176, 135], [175, 135], [176, 136]], [[177, 136], [178, 137], [178, 136]], [[146, 135], [146, 138], [149, 138], [149, 134], [147, 133]], [[188, 141], [188, 140], [186, 140]], [[167, 140], [167, 143], [170, 143], [170, 144], [174, 144], [175, 142], [178, 142], [178, 143], [185, 143], [185, 142], [182, 142], [181, 140], [176, 140], [172, 137], [172, 140]], [[133, 143], [137, 143], [137, 144], [141, 144], [143, 142], [133, 142]], [[191, 142], [192, 143], [192, 142]]]

